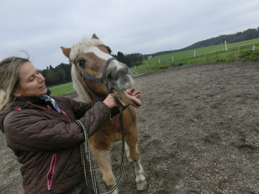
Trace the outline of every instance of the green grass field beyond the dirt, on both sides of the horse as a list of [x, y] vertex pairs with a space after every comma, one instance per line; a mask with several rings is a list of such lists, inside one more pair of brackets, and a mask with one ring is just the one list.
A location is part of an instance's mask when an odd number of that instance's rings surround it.
[[[209, 62], [232, 62], [235, 60], [240, 60], [240, 55], [243, 55], [242, 59], [246, 59], [247, 54], [250, 55], [251, 53], [251, 48], [253, 46], [251, 44], [256, 45], [257, 53], [259, 50], [259, 38], [227, 44], [228, 51], [224, 51], [225, 45], [216, 45], [207, 46], [203, 48], [196, 48], [188, 51], [169, 53], [165, 55], [158, 55], [156, 57], [151, 58], [150, 60], [144, 60], [143, 63], [138, 65], [137, 67], [131, 68], [131, 72], [134, 75], [149, 71], [158, 71], [160, 69], [168, 69], [172, 67], [173, 63], [177, 62], [182, 62], [185, 65]], [[239, 49], [238, 46], [240, 47]], [[174, 62], [172, 61], [172, 57], [174, 58]], [[257, 58], [255, 58], [255, 60]], [[251, 58], [247, 58], [247, 60], [249, 59]], [[74, 92], [72, 82], [62, 85], [51, 86], [48, 87], [48, 89], [51, 90], [51, 96], [63, 96]]]

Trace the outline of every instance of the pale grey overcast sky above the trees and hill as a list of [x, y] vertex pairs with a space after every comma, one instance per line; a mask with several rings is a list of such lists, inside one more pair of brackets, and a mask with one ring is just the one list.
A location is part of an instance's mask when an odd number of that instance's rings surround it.
[[258, 0], [0, 0], [0, 60], [27, 51], [56, 67], [94, 33], [114, 54], [150, 54], [259, 27]]

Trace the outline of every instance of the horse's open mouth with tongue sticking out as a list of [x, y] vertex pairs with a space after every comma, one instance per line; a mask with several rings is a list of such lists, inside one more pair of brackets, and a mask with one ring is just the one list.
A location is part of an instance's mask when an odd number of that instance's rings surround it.
[[133, 105], [133, 107], [138, 108], [141, 106], [140, 100], [135, 98], [134, 96], [129, 95], [126, 91], [117, 91], [113, 90], [117, 95], [115, 98], [119, 101], [119, 104], [126, 107], [128, 105]]

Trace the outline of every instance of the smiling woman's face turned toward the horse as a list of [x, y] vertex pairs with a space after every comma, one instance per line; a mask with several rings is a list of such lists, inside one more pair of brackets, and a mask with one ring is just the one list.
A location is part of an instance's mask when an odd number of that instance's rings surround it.
[[42, 96], [47, 93], [45, 78], [31, 64], [24, 62], [19, 67], [19, 87], [15, 91], [15, 96]]

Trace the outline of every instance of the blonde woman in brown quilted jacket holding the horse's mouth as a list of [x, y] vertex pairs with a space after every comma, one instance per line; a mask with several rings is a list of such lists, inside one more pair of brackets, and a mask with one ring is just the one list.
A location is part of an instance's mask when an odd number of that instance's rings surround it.
[[[24, 193], [91, 193], [79, 150], [85, 138], [75, 121], [80, 120], [92, 136], [117, 112], [116, 94], [95, 104], [51, 98], [44, 80], [26, 58], [0, 62], [0, 127], [22, 164]], [[106, 192], [99, 183], [98, 187]]]

